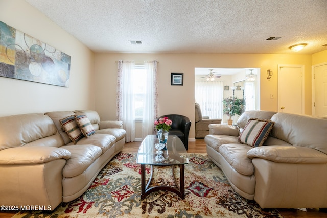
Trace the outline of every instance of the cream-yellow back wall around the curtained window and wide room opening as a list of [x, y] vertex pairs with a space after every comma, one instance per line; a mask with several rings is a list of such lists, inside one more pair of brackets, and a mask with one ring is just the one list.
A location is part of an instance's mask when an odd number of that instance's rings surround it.
[[[194, 68], [245, 67], [261, 69], [261, 110], [277, 111], [277, 65], [305, 66], [305, 113], [311, 114], [311, 55], [280, 54], [95, 54], [96, 110], [107, 119], [116, 118], [116, 72], [119, 59], [125, 61], [158, 60], [159, 115], [183, 114], [191, 121], [194, 138]], [[267, 69], [273, 71], [270, 81]], [[183, 86], [171, 86], [172, 72], [184, 74]], [[291, 82], [291, 81], [290, 81]]]

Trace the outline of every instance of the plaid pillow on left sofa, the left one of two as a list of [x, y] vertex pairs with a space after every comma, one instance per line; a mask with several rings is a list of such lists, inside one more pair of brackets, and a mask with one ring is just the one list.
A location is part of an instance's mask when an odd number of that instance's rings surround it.
[[62, 118], [59, 120], [59, 122], [74, 144], [84, 137], [75, 121], [74, 115]]

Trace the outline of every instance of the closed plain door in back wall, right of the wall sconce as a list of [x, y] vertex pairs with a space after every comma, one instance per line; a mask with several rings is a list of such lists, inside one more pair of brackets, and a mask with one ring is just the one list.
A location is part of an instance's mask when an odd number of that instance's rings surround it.
[[278, 112], [304, 114], [303, 65], [278, 65]]

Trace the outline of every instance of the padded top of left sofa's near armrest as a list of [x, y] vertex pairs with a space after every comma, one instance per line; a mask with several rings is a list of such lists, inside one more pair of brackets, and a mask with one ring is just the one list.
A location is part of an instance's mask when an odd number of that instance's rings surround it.
[[57, 159], [69, 159], [66, 149], [46, 146], [15, 147], [0, 151], [0, 164], [39, 164]]

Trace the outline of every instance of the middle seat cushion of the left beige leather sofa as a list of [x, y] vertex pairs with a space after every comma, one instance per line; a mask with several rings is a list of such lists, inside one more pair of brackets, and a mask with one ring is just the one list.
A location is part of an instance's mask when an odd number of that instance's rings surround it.
[[96, 133], [88, 138], [83, 137], [77, 142], [77, 145], [82, 146], [83, 144], [93, 144], [94, 146], [101, 148], [103, 154], [110, 149], [114, 143], [116, 143], [116, 138], [114, 136]]

